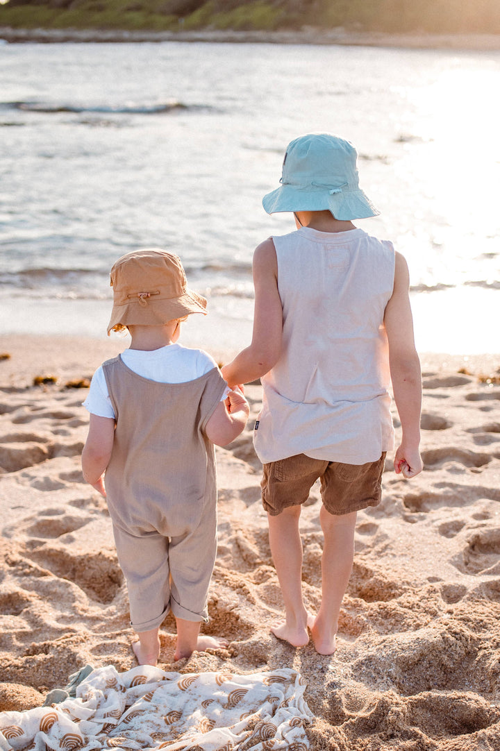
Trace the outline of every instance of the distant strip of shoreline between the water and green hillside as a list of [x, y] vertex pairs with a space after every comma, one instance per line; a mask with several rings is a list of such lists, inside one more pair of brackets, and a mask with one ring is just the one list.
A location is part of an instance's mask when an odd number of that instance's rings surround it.
[[9, 44], [123, 43], [123, 42], [206, 42], [216, 44], [315, 44], [355, 47], [403, 47], [415, 50], [500, 51], [498, 34], [386, 34], [350, 32], [345, 29], [300, 31], [217, 31], [192, 32], [126, 31], [122, 29], [14, 29], [0, 26], [0, 40]]

